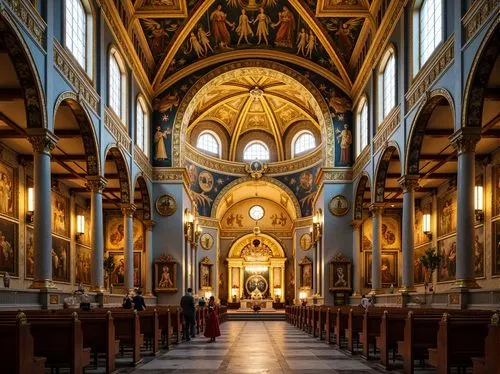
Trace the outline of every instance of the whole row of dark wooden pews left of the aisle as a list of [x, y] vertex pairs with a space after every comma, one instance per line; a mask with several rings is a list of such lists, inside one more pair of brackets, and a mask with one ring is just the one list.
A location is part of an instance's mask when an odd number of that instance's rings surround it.
[[[202, 333], [206, 307], [196, 308], [196, 333]], [[218, 309], [223, 322], [227, 308]], [[116, 370], [118, 355], [131, 365], [141, 355], [156, 355], [182, 342], [183, 314], [179, 307], [156, 307], [145, 311], [121, 308], [25, 310], [0, 312], [0, 360], [2, 373], [43, 374], [45, 368], [59, 372], [84, 368], [104, 358], [106, 373]], [[5, 370], [5, 371], [4, 371]]]

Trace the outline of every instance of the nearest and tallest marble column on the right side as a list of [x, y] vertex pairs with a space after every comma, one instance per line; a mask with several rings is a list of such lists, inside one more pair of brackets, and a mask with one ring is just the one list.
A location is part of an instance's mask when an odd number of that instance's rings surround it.
[[481, 129], [462, 127], [450, 136], [457, 150], [457, 269], [455, 287], [478, 288], [474, 279], [475, 150]]

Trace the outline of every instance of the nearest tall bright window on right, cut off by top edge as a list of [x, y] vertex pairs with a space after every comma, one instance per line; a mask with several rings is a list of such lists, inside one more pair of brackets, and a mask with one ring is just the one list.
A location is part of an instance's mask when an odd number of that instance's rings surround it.
[[418, 68], [425, 64], [443, 39], [442, 13], [442, 0], [424, 0], [418, 10]]

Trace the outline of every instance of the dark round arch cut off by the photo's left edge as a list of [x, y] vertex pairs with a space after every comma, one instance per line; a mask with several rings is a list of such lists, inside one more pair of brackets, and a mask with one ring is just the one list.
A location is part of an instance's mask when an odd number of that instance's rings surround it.
[[23, 92], [28, 128], [47, 128], [45, 96], [29, 49], [6, 12], [0, 13], [0, 48], [12, 60]]

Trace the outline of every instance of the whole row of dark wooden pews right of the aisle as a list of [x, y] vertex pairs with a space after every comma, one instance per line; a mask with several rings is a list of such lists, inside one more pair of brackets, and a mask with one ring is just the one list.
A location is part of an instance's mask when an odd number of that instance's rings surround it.
[[500, 374], [498, 312], [288, 306], [286, 319], [349, 354], [378, 359], [385, 369], [393, 369], [399, 357], [405, 373], [413, 373], [417, 361], [438, 373], [472, 367], [475, 374]]

